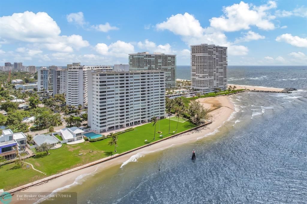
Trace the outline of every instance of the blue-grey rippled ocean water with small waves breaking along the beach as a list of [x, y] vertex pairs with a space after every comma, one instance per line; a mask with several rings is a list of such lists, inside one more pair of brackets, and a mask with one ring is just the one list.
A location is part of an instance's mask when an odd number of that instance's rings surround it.
[[213, 134], [135, 154], [62, 191], [77, 192], [78, 203], [89, 204], [307, 203], [307, 68], [252, 68], [231, 68], [229, 80], [299, 90], [232, 95], [235, 112]]

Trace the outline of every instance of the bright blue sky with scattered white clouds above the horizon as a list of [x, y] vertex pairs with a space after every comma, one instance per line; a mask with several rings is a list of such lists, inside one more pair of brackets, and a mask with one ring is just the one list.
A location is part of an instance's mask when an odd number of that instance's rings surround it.
[[0, 1], [0, 65], [128, 63], [228, 47], [229, 65], [307, 65], [306, 1]]

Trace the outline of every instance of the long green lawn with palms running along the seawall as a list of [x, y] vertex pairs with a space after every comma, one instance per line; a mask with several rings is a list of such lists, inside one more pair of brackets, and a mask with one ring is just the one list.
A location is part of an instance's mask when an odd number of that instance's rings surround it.
[[[177, 121], [170, 120], [170, 132], [175, 131], [176, 126]], [[177, 133], [191, 129], [193, 127], [196, 126], [189, 121], [179, 123]], [[154, 140], [154, 126], [152, 125], [152, 123], [147, 123], [142, 126], [135, 127], [132, 131], [119, 134], [116, 153], [123, 153], [130, 149], [134, 149], [139, 146], [146, 145], [148, 143], [173, 135], [173, 133], [168, 134], [168, 119], [162, 119], [157, 122], [156, 132], [159, 130], [162, 133], [156, 133], [156, 137]], [[159, 137], [159, 135], [161, 134], [163, 135], [163, 137]], [[76, 145], [63, 144], [63, 146], [59, 149], [50, 150], [49, 155], [47, 155], [46, 153], [37, 153], [35, 157], [31, 157], [26, 161], [33, 164], [34, 168], [46, 173], [46, 175], [40, 175], [37, 172], [35, 174], [37, 175], [35, 178], [33, 178], [32, 174], [24, 172], [29, 171], [29, 169], [17, 169], [18, 173], [16, 173], [16, 175], [22, 175], [20, 176], [22, 177], [22, 179], [15, 178], [14, 175], [16, 170], [14, 169], [13, 171], [9, 169], [14, 166], [14, 164], [10, 164], [10, 167], [6, 167], [7, 165], [3, 166], [2, 168], [0, 167], [0, 188], [9, 190], [12, 187], [17, 187], [25, 183], [30, 183], [36, 179], [50, 176], [77, 166], [81, 166], [83, 164], [87, 164], [92, 161], [96, 161], [104, 157], [108, 157], [114, 154], [114, 146], [108, 145], [109, 140], [110, 138], [97, 142], [83, 142]], [[148, 142], [145, 142], [145, 140], [147, 140]], [[93, 152], [90, 153], [91, 150], [93, 150]], [[78, 156], [79, 153], [83, 153], [83, 155]], [[14, 182], [6, 183], [6, 178], [10, 178], [14, 180]], [[21, 180], [24, 180], [25, 182], [21, 183]]]

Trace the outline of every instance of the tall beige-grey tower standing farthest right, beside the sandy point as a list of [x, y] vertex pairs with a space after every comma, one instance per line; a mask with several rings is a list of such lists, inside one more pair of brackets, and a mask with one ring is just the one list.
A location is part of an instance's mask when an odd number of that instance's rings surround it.
[[227, 89], [227, 47], [191, 46], [192, 88], [204, 93]]

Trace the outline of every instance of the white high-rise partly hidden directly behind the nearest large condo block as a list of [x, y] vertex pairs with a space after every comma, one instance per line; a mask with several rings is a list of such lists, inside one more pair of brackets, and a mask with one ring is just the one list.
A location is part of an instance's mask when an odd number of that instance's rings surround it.
[[87, 104], [87, 70], [112, 71], [112, 66], [71, 66], [67, 69], [66, 105]]

